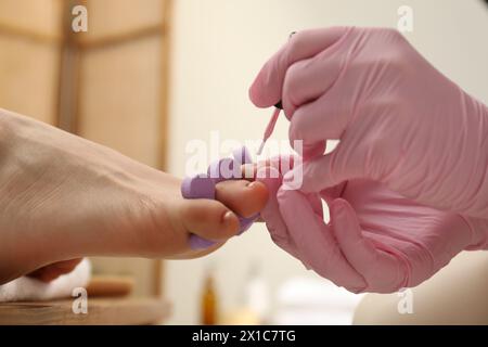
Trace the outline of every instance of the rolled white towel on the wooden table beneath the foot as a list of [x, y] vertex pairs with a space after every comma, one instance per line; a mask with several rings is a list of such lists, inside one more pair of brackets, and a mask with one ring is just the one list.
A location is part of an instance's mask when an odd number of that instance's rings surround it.
[[72, 272], [59, 277], [50, 283], [22, 277], [0, 285], [0, 303], [70, 297], [74, 288], [88, 285], [90, 277], [91, 265], [85, 258]]

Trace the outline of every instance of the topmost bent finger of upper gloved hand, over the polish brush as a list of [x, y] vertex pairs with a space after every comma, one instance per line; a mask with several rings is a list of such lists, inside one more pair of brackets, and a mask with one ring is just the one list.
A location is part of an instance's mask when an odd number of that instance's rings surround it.
[[339, 40], [349, 28], [330, 27], [298, 31], [261, 68], [249, 89], [251, 101], [269, 107], [282, 99], [283, 81], [288, 67], [309, 59]]

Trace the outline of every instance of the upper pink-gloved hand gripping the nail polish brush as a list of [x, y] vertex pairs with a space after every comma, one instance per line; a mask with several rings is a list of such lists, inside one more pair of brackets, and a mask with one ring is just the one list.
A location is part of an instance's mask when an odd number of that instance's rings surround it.
[[[299, 31], [249, 95], [259, 107], [282, 100], [290, 139], [304, 141], [304, 155], [319, 149], [304, 168], [303, 192], [371, 179], [418, 203], [488, 217], [488, 108], [396, 30]], [[329, 139], [341, 142], [322, 156]]]

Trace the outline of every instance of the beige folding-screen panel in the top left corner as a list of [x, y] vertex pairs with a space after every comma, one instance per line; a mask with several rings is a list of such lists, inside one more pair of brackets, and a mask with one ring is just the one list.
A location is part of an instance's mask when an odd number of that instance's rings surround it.
[[1, 0], [0, 23], [4, 27], [60, 37], [62, 1]]

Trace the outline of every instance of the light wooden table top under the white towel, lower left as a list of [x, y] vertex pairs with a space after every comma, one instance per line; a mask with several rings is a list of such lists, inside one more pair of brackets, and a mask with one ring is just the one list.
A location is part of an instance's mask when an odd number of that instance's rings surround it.
[[74, 313], [73, 299], [0, 304], [0, 325], [157, 324], [169, 314], [159, 298], [91, 298], [88, 313]]

